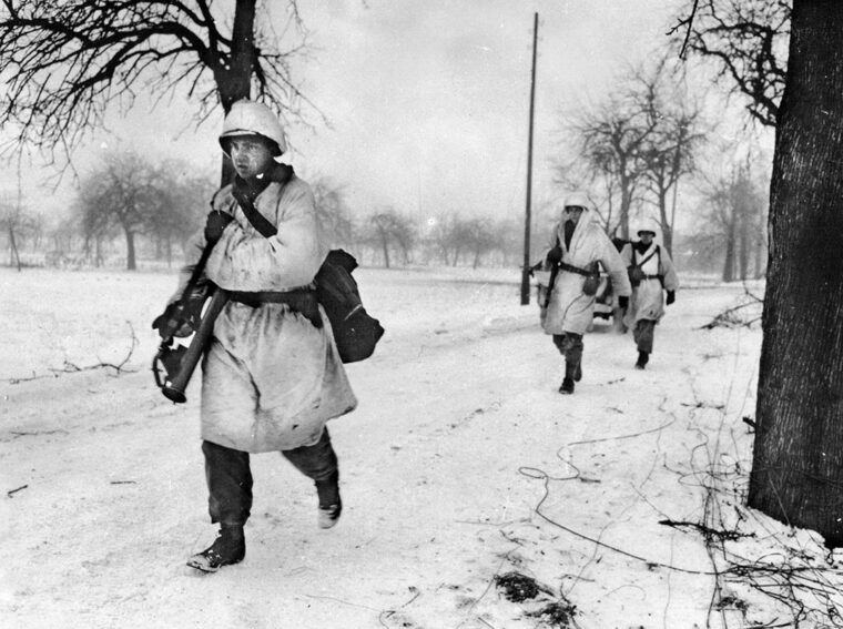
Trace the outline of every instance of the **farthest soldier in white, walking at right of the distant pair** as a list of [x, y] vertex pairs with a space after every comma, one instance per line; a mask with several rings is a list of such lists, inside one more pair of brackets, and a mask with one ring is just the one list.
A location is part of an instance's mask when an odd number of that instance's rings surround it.
[[623, 316], [623, 323], [632, 328], [638, 346], [637, 369], [643, 369], [652, 354], [656, 324], [664, 316], [662, 291], [667, 291], [667, 304], [676, 301], [679, 280], [670, 255], [656, 242], [656, 227], [638, 230], [640, 240], [624, 245], [621, 251], [632, 284], [632, 300]]

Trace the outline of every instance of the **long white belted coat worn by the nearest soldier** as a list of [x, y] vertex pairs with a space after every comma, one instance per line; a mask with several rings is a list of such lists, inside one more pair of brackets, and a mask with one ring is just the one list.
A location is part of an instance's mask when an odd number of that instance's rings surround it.
[[[271, 183], [255, 209], [277, 227], [264, 237], [232, 195], [220, 190], [215, 210], [234, 216], [216, 243], [205, 276], [230, 291], [291, 291], [308, 286], [327, 255], [311, 187], [293, 175]], [[194, 260], [205, 246], [200, 234]], [[182, 285], [191, 266], [182, 272]], [[325, 423], [357, 405], [319, 306], [315, 327], [286, 304], [228, 302], [214, 324], [202, 363], [202, 438], [248, 453], [313, 445]]]

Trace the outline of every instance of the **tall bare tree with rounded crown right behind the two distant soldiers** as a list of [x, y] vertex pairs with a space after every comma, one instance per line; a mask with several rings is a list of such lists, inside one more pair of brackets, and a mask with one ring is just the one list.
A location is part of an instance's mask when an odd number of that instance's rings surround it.
[[700, 108], [677, 70], [663, 58], [631, 69], [609, 99], [583, 106], [567, 128], [576, 158], [558, 165], [556, 177], [568, 187], [598, 184], [589, 190], [601, 222], [623, 240], [633, 205], [649, 199], [669, 251], [679, 180], [693, 171], [704, 138]]

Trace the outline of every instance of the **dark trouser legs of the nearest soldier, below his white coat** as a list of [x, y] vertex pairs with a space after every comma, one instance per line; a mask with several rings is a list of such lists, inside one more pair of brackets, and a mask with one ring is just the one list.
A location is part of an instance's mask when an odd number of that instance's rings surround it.
[[[252, 513], [252, 469], [248, 453], [202, 442], [207, 480], [207, 509], [212, 523], [244, 525]], [[337, 473], [337, 458], [328, 429], [312, 446], [282, 450], [295, 468], [318, 483]]]

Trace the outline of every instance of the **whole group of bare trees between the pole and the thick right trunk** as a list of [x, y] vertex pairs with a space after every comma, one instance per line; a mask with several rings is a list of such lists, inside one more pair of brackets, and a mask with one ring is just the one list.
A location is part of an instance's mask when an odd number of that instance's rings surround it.
[[634, 237], [649, 216], [680, 267], [720, 268], [725, 282], [763, 276], [769, 164], [758, 151], [715, 145], [717, 124], [682, 67], [666, 58], [632, 67], [603, 100], [573, 105], [556, 181], [588, 189], [610, 235]]

